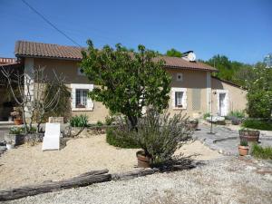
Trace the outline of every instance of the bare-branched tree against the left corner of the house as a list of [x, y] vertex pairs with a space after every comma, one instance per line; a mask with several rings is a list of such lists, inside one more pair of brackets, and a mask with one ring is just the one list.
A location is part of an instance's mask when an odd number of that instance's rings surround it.
[[[54, 79], [49, 80], [41, 67], [34, 68], [30, 73], [12, 73], [2, 67], [1, 72], [23, 113], [24, 131], [31, 132], [34, 121], [37, 122], [37, 131], [40, 131], [45, 114], [53, 112], [58, 105], [64, 78], [53, 72]], [[17, 86], [13, 83], [17, 83]], [[19, 90], [19, 94], [15, 92], [15, 88]]]

